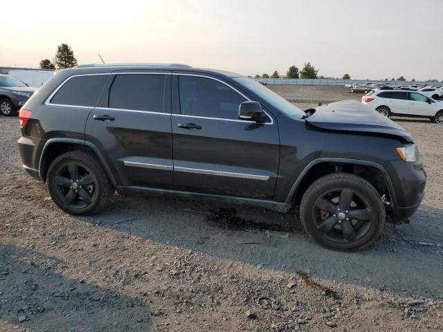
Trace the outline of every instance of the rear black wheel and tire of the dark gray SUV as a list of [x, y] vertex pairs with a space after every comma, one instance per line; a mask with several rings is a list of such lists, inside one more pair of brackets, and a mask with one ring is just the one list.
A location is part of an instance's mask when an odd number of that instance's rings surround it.
[[55, 158], [46, 180], [54, 203], [69, 214], [95, 214], [114, 195], [102, 165], [84, 151], [70, 151]]

